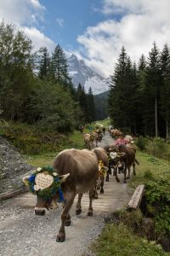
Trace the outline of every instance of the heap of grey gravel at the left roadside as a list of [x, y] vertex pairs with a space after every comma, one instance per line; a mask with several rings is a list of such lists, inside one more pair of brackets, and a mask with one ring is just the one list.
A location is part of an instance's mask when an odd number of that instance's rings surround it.
[[32, 169], [33, 166], [22, 159], [14, 146], [0, 137], [0, 193], [22, 188], [21, 177]]

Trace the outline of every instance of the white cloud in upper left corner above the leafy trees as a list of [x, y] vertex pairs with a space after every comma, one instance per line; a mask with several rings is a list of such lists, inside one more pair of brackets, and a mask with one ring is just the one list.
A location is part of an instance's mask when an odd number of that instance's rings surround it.
[[0, 21], [14, 23], [19, 29], [23, 29], [35, 50], [46, 46], [52, 51], [54, 42], [34, 27], [39, 20], [43, 20], [45, 10], [39, 0], [0, 0]]

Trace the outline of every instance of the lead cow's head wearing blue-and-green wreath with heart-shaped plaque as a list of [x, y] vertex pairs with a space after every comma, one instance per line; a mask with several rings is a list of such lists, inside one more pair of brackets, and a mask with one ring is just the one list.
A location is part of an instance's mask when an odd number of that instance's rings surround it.
[[53, 200], [64, 201], [60, 184], [65, 182], [70, 173], [58, 176], [54, 170], [53, 172], [49, 172], [49, 170], [41, 172], [42, 168], [38, 169], [41, 169], [39, 173], [36, 171], [30, 177], [23, 177], [23, 182], [29, 186], [33, 195], [37, 195], [35, 214], [45, 215]]

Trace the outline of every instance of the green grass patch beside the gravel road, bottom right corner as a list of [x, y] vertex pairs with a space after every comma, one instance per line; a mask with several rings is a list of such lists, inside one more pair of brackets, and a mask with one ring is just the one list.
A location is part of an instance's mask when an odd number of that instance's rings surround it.
[[107, 224], [91, 249], [97, 256], [168, 255], [160, 245], [135, 236], [133, 231], [123, 224]]

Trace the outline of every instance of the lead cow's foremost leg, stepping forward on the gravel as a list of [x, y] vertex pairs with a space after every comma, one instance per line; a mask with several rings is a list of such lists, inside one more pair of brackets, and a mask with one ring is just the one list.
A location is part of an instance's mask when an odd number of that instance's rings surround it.
[[66, 198], [66, 204], [61, 212], [61, 226], [59, 229], [59, 234], [57, 235], [56, 241], [65, 241], [65, 221], [69, 216], [69, 211], [75, 199], [76, 193], [71, 193], [68, 198]]

